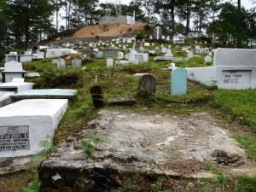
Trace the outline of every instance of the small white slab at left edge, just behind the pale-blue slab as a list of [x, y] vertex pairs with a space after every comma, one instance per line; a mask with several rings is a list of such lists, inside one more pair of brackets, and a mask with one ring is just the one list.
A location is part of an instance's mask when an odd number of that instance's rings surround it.
[[9, 82], [0, 84], [0, 90], [9, 90], [15, 91], [15, 93], [20, 93], [26, 90], [32, 90], [33, 83], [25, 83], [25, 82]]

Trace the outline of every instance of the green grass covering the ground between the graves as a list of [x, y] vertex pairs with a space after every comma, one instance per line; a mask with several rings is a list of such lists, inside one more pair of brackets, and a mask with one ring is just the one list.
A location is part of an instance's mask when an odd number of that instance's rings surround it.
[[[160, 48], [160, 44], [157, 45]], [[166, 45], [167, 46], [167, 45]], [[186, 53], [177, 54], [181, 47], [174, 48], [176, 56], [186, 56]], [[125, 51], [126, 52], [126, 51]], [[149, 57], [147, 63], [118, 67], [105, 67], [105, 59], [94, 62], [83, 61], [82, 67], [72, 68], [71, 61], [67, 61], [67, 68], [57, 70], [51, 59], [27, 62], [25, 70], [40, 73], [40, 78], [26, 79], [34, 82], [36, 89], [66, 88], [78, 90], [75, 101], [69, 104], [67, 113], [61, 119], [61, 124], [55, 131], [54, 144], [58, 146], [67, 137], [84, 127], [92, 119], [97, 109], [93, 108], [90, 97], [90, 85], [100, 84], [103, 88], [104, 102], [110, 97], [134, 96], [137, 105], [134, 108], [118, 107], [119, 110], [137, 113], [195, 113], [208, 112], [228, 127], [242, 127], [232, 129], [236, 140], [241, 147], [247, 150], [248, 157], [256, 160], [256, 90], [207, 90], [206, 86], [195, 82], [188, 82], [186, 96], [170, 95], [170, 71], [161, 68], [169, 67], [170, 61], [154, 62], [154, 56]], [[176, 62], [177, 67], [205, 67], [212, 65], [204, 63], [204, 55], [194, 57], [189, 61]], [[86, 67], [86, 68], [84, 68]], [[151, 73], [156, 79], [156, 94], [149, 97], [137, 96], [139, 79], [134, 73]], [[97, 79], [97, 81], [96, 81]], [[105, 108], [108, 108], [105, 107]], [[147, 110], [145, 110], [145, 108]], [[218, 166], [209, 165], [208, 169], [218, 175], [217, 181], [173, 180], [158, 181], [152, 185], [154, 191], [253, 191], [255, 178], [242, 177], [235, 181], [229, 180], [221, 174]], [[26, 176], [27, 177], [27, 176]], [[190, 186], [194, 186], [191, 188]], [[230, 187], [228, 187], [230, 185]], [[254, 185], [255, 186], [255, 185]], [[247, 189], [247, 190], [244, 190]], [[255, 191], [255, 190], [254, 190]]]

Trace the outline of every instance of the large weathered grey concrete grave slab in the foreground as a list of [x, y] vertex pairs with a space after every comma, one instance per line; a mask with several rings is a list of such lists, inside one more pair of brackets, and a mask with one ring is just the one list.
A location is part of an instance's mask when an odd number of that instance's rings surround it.
[[[92, 139], [96, 151], [85, 154], [83, 134], [108, 143]], [[245, 151], [207, 113], [172, 116], [101, 110], [84, 131], [69, 137], [38, 170], [43, 190], [141, 191], [136, 173], [177, 177], [183, 173], [173, 165], [210, 161], [239, 168], [245, 160]], [[199, 169], [187, 177], [214, 176]]]

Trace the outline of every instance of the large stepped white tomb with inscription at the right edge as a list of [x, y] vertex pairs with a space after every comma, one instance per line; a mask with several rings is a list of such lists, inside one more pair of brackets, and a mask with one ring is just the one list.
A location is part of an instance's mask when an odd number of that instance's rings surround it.
[[256, 49], [215, 49], [213, 67], [186, 68], [188, 79], [218, 89], [256, 89]]

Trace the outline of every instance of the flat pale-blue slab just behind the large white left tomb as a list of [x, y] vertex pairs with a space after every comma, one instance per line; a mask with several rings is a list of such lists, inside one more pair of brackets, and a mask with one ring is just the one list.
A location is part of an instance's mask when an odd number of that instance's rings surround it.
[[26, 90], [11, 96], [11, 99], [74, 99], [76, 92], [67, 89]]

